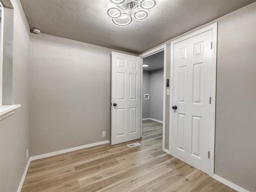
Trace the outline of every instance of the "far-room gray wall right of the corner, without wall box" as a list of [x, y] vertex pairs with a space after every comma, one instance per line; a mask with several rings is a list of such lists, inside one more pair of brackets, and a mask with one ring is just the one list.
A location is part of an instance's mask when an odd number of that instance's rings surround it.
[[150, 118], [163, 120], [164, 69], [150, 71]]

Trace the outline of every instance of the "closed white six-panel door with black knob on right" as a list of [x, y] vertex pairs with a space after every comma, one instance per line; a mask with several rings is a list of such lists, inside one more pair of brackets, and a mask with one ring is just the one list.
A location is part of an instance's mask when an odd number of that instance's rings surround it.
[[174, 44], [173, 55], [172, 155], [207, 174], [211, 42], [209, 30]]

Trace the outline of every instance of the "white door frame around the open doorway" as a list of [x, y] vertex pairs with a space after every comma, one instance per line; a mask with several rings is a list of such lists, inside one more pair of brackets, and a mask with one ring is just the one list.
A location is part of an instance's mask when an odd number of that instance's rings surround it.
[[[154, 55], [158, 52], [164, 51], [164, 102], [163, 102], [163, 139], [162, 139], [162, 150], [164, 152], [168, 153], [168, 149], [165, 148], [165, 110], [166, 110], [166, 44], [159, 46], [157, 48], [154, 48], [150, 51], [147, 51], [143, 54], [138, 55], [138, 57], [142, 58], [142, 62], [141, 65], [143, 65], [143, 58]], [[142, 82], [143, 82], [143, 66], [141, 68], [141, 89], [140, 89], [140, 108], [141, 108], [141, 112], [140, 112], [140, 124], [141, 124], [141, 129], [140, 129], [140, 137], [142, 137]]]

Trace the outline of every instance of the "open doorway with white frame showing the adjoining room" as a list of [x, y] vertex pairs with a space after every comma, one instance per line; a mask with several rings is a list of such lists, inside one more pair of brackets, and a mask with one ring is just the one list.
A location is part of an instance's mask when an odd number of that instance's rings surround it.
[[146, 52], [142, 60], [141, 137], [165, 149], [166, 45]]

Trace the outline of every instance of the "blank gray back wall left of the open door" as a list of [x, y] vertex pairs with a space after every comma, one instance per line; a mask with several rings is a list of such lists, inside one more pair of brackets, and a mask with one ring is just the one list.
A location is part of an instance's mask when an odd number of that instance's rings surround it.
[[30, 34], [32, 156], [110, 140], [112, 51]]

